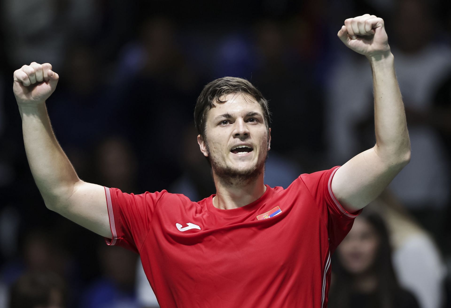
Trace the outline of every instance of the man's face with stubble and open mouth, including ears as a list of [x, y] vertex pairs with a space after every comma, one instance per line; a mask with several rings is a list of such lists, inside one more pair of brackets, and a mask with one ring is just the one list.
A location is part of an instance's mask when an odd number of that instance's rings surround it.
[[200, 149], [219, 177], [254, 177], [263, 171], [271, 141], [262, 107], [247, 94], [231, 93], [221, 100], [226, 103], [207, 113], [206, 140], [198, 136]]

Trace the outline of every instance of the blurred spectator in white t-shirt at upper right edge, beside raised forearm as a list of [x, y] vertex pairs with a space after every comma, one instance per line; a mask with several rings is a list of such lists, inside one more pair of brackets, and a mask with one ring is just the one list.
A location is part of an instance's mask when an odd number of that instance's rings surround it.
[[[442, 210], [449, 202], [450, 159], [437, 131], [423, 118], [433, 109], [435, 85], [451, 68], [451, 49], [433, 41], [438, 21], [424, 0], [401, 0], [391, 19], [395, 50], [400, 52], [396, 70], [415, 154], [390, 187], [405, 206], [429, 216], [430, 209]], [[437, 216], [429, 216], [431, 227], [442, 226]]]

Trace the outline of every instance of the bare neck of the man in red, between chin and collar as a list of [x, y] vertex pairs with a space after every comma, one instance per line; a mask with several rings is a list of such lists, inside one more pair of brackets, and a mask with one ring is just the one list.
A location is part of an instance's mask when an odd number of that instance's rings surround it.
[[213, 179], [216, 186], [213, 205], [216, 208], [240, 208], [254, 202], [266, 191], [263, 172], [247, 180], [220, 178], [213, 172]]

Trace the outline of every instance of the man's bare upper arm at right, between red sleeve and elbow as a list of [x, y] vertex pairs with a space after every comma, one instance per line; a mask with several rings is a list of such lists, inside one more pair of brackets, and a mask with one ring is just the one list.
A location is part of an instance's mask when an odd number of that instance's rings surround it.
[[382, 159], [373, 147], [341, 166], [332, 178], [331, 189], [347, 210], [359, 210], [376, 199], [405, 164]]

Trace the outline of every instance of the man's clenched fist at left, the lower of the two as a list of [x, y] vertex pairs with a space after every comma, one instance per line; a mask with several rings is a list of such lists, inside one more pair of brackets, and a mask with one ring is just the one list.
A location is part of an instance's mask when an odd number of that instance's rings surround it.
[[60, 78], [50, 63], [36, 62], [14, 71], [13, 91], [18, 104], [44, 104]]

